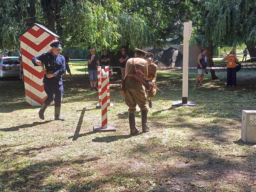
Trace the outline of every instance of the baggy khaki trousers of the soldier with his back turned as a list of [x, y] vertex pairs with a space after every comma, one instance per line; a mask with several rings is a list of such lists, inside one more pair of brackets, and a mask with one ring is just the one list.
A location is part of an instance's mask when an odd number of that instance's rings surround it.
[[125, 104], [129, 107], [129, 113], [135, 113], [136, 104], [141, 110], [147, 110], [147, 94], [144, 90], [125, 88]]

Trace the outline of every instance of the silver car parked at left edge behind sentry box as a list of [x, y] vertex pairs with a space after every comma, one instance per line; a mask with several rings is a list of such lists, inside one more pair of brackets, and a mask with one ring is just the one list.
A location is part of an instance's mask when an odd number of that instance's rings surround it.
[[4, 77], [19, 77], [20, 63], [19, 57], [2, 57], [0, 59], [0, 80]]

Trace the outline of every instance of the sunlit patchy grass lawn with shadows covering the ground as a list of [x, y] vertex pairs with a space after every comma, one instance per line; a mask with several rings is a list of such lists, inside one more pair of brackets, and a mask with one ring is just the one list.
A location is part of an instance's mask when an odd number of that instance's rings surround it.
[[[93, 133], [101, 110], [97, 92], [89, 91], [85, 67], [70, 66], [74, 81], [64, 81], [61, 115], [54, 106], [45, 120], [39, 107], [25, 105], [21, 81], [0, 81], [1, 192], [252, 192], [256, 191], [256, 144], [241, 138], [243, 109], [256, 109], [256, 70], [237, 72], [237, 87], [226, 87], [205, 75], [195, 87], [189, 71], [189, 101], [198, 106], [172, 106], [182, 98], [182, 71], [158, 71], [151, 130], [129, 135], [127, 106], [120, 77], [111, 80], [109, 125], [116, 132]], [[69, 77], [69, 76], [67, 76]], [[136, 123], [141, 126], [139, 111]]]

